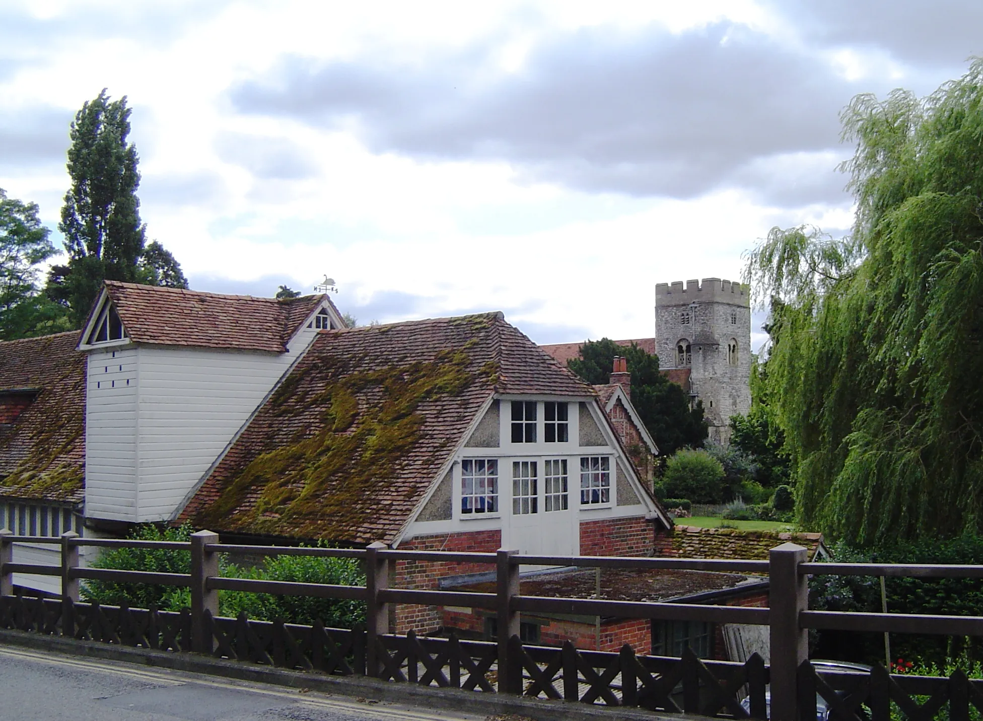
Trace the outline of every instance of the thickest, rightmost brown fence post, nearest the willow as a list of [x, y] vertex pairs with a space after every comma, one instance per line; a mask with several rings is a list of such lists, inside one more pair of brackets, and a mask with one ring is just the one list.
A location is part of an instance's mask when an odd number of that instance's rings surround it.
[[795, 543], [768, 554], [772, 721], [795, 721], [798, 712], [798, 668], [809, 657], [809, 635], [799, 626], [799, 612], [809, 608], [808, 582], [798, 573], [806, 560], [806, 549]]

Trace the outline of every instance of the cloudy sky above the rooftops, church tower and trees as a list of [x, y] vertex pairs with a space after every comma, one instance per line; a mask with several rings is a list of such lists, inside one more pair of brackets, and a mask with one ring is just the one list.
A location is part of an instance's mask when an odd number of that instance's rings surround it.
[[0, 188], [60, 248], [105, 87], [195, 290], [328, 276], [361, 323], [651, 337], [657, 283], [736, 280], [775, 226], [847, 233], [839, 112], [960, 76], [981, 27], [978, 0], [0, 0]]

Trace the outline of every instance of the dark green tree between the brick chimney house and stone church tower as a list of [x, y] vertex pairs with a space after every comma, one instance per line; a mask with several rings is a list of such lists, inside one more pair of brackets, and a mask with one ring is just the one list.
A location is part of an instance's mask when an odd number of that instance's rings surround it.
[[681, 386], [672, 383], [659, 370], [659, 357], [636, 344], [619, 346], [604, 338], [587, 341], [580, 347], [580, 358], [567, 364], [588, 383], [609, 381], [615, 356], [623, 356], [631, 371], [631, 403], [641, 416], [649, 434], [663, 456], [670, 456], [683, 446], [699, 446], [707, 437], [703, 405], [691, 409]]

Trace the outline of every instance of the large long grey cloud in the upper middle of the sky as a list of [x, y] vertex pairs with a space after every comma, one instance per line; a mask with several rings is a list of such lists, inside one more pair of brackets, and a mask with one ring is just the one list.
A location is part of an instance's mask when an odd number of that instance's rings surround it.
[[[290, 56], [230, 93], [241, 112], [351, 130], [376, 152], [506, 160], [530, 181], [687, 198], [760, 158], [835, 149], [838, 109], [856, 89], [832, 66], [728, 23], [556, 34], [515, 73], [492, 67], [492, 54], [415, 65]], [[744, 180], [781, 197], [753, 173]]]

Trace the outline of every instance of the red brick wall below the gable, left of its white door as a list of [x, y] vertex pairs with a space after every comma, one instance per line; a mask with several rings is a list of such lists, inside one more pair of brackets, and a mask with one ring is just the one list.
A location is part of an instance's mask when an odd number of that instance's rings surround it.
[[[473, 530], [461, 533], [421, 535], [401, 543], [403, 551], [478, 551], [493, 553], [501, 547], [501, 531]], [[442, 563], [432, 561], [397, 561], [390, 583], [394, 588], [437, 587], [437, 580], [447, 576], [481, 574], [494, 571], [494, 564]], [[440, 609], [434, 606], [396, 606], [394, 632], [405, 634], [413, 629], [418, 634], [435, 631], [441, 625]]]

